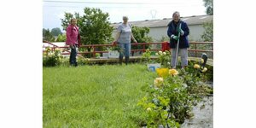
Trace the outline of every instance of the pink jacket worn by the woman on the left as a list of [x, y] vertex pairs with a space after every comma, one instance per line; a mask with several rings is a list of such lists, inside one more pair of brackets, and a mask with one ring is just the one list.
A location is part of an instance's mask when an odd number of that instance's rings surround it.
[[68, 25], [67, 26], [67, 40], [66, 44], [71, 45], [71, 44], [79, 44], [79, 27], [78, 26], [73, 26], [73, 25]]

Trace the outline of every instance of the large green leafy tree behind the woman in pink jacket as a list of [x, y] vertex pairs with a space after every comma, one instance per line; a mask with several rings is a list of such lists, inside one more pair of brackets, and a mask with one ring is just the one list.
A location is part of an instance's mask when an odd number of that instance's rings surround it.
[[[66, 30], [72, 18], [78, 20], [81, 36], [81, 44], [107, 44], [113, 41], [113, 26], [110, 26], [108, 13], [103, 13], [101, 9], [84, 8], [84, 15], [75, 13], [65, 13], [65, 18], [61, 19], [61, 26]], [[100, 50], [102, 48], [99, 48]], [[90, 48], [87, 50], [90, 51]]]

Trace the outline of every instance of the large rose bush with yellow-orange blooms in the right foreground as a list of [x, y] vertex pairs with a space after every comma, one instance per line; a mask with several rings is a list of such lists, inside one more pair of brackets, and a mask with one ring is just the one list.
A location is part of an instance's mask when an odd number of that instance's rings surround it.
[[194, 116], [191, 110], [201, 96], [213, 93], [202, 82], [207, 69], [199, 64], [181, 70], [159, 68], [156, 72], [159, 78], [144, 87], [147, 95], [137, 103], [144, 109], [147, 127], [179, 127], [184, 119]]

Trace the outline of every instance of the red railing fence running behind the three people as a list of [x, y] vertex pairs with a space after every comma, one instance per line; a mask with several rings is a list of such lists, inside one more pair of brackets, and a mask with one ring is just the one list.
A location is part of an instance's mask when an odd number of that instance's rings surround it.
[[[44, 41], [44, 43], [50, 44], [51, 49], [55, 50], [58, 49], [64, 49], [67, 51], [66, 53], [62, 53], [62, 55], [70, 55], [70, 52], [68, 51], [68, 46], [59, 47], [55, 44], [52, 44], [48, 41]], [[201, 57], [201, 53], [207, 53], [209, 58], [213, 58], [213, 42], [189, 42], [190, 49], [189, 56], [190, 57]], [[160, 43], [138, 43], [138, 44], [131, 44], [131, 55], [142, 55], [143, 52], [146, 51], [146, 49], [150, 49], [150, 51], [165, 51], [170, 50], [169, 43], [168, 42], [160, 42]], [[80, 48], [84, 48], [84, 51], [79, 51], [79, 55], [92, 55], [93, 57], [96, 57], [96, 53], [108, 53], [108, 49], [113, 49], [113, 44], [90, 44], [90, 45], [81, 45]], [[99, 49], [101, 48], [101, 49]], [[86, 50], [90, 49], [90, 51]], [[103, 49], [103, 50], [102, 50]], [[44, 52], [44, 50], [43, 50]]]

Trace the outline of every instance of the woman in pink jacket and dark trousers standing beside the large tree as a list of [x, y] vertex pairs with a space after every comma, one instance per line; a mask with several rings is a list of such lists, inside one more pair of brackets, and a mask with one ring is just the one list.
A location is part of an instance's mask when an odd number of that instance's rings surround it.
[[70, 25], [67, 26], [67, 40], [66, 44], [70, 46], [71, 48], [71, 53], [69, 57], [69, 63], [71, 66], [78, 66], [78, 62], [76, 59], [77, 56], [77, 47], [79, 46], [80, 43], [80, 35], [79, 35], [79, 27], [77, 26], [77, 20], [76, 19], [71, 19], [70, 20]]

